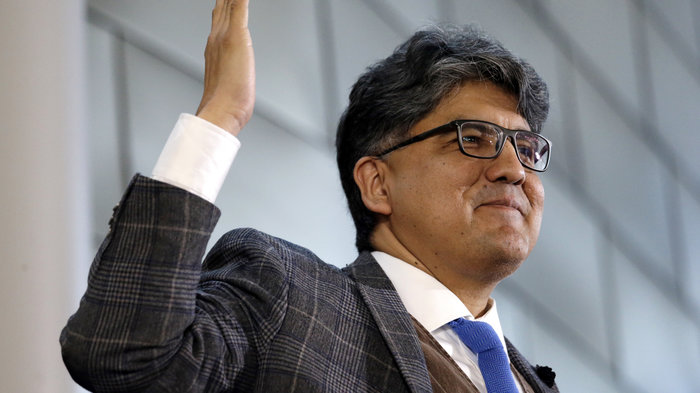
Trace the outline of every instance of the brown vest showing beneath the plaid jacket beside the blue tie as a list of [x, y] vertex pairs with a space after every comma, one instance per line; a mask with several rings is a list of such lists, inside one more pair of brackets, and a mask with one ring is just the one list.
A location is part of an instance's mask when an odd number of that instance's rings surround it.
[[[472, 381], [467, 377], [461, 368], [455, 363], [450, 355], [445, 352], [440, 343], [438, 343], [430, 332], [425, 330], [415, 318], [413, 326], [418, 333], [423, 353], [425, 354], [425, 363], [428, 366], [428, 374], [430, 374], [430, 382], [433, 385], [434, 393], [479, 393], [479, 390], [474, 386]], [[525, 393], [534, 393], [534, 390], [525, 381], [518, 370], [511, 364], [513, 375], [520, 382]]]

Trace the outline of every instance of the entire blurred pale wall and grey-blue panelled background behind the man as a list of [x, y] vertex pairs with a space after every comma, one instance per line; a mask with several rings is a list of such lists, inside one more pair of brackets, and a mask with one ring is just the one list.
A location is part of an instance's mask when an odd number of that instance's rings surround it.
[[[58, 335], [111, 208], [192, 113], [214, 1], [0, 5], [0, 380], [75, 392]], [[350, 86], [415, 29], [474, 22], [548, 82], [540, 240], [496, 290], [562, 392], [700, 392], [700, 2], [253, 0], [258, 98], [213, 238], [253, 226], [344, 266], [332, 143]]]

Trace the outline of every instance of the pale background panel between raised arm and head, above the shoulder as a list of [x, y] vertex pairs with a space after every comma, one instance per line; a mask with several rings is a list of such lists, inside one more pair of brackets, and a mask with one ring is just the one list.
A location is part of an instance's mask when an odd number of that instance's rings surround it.
[[217, 206], [212, 239], [254, 227], [297, 243], [337, 266], [352, 262], [355, 227], [335, 158], [253, 115]]

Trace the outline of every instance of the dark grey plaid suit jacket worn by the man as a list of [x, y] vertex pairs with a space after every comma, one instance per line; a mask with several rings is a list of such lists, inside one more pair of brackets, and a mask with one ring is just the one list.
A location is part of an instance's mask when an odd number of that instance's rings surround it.
[[78, 383], [95, 392], [431, 391], [411, 318], [369, 253], [338, 269], [240, 229], [200, 264], [218, 217], [195, 195], [134, 178], [61, 333]]

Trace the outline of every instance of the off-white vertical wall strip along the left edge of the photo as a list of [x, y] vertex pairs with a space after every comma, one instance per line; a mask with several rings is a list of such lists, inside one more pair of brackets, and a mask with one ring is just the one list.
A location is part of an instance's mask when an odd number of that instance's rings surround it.
[[0, 380], [70, 392], [58, 336], [90, 258], [83, 110], [84, 5], [0, 11]]

